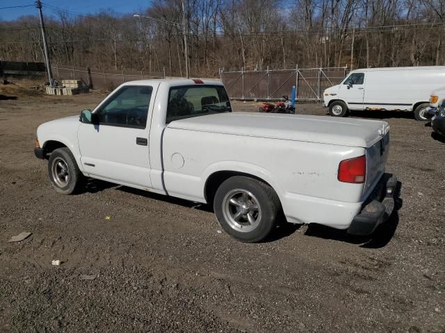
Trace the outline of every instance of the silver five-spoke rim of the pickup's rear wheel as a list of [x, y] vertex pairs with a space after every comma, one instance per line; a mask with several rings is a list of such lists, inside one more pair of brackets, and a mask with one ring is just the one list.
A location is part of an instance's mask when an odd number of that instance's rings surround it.
[[257, 198], [245, 189], [232, 189], [223, 199], [223, 214], [230, 228], [250, 232], [261, 221], [261, 207]]

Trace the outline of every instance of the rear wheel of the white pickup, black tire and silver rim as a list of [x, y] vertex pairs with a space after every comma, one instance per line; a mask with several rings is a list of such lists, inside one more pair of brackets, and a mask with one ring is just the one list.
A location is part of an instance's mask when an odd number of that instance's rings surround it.
[[[238, 203], [243, 203], [243, 206], [232, 204], [232, 194], [235, 198], [237, 191], [241, 191]], [[248, 199], [243, 200], [243, 192], [248, 192]], [[250, 197], [250, 195], [252, 197]], [[229, 200], [229, 203], [228, 201]], [[234, 222], [233, 216], [229, 214], [241, 214], [241, 210], [246, 207], [258, 206], [257, 212], [250, 211], [242, 215]], [[244, 207], [244, 208], [243, 208]], [[221, 228], [230, 234], [238, 241], [245, 243], [254, 243], [262, 241], [268, 237], [277, 226], [279, 213], [282, 211], [280, 199], [278, 198], [272, 187], [260, 182], [259, 180], [248, 178], [244, 176], [233, 176], [223, 182], [223, 184], [216, 190], [215, 198], [213, 200], [213, 210], [216, 214], [216, 219], [221, 225]], [[255, 222], [250, 223], [248, 215], [256, 216]], [[244, 217], [245, 216], [245, 217]], [[245, 220], [245, 222], [243, 222]], [[244, 230], [243, 230], [244, 225]], [[253, 228], [250, 230], [250, 228]], [[243, 230], [243, 231], [241, 231]]]

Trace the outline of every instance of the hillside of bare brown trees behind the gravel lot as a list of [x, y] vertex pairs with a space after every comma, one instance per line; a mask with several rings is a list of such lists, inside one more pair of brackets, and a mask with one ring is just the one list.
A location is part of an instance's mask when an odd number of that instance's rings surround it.
[[[185, 0], [193, 76], [252, 67], [444, 65], [445, 0]], [[51, 60], [184, 75], [180, 0], [80, 15], [43, 3]], [[0, 59], [43, 61], [36, 16], [0, 22]]]

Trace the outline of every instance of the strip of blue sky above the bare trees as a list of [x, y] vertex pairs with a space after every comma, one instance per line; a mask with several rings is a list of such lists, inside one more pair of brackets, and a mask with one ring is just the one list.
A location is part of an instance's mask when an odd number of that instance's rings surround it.
[[[101, 9], [112, 8], [119, 13], [142, 12], [151, 0], [42, 0], [44, 15], [54, 15], [54, 7], [70, 10], [79, 14], [95, 14]], [[48, 4], [45, 8], [45, 4]], [[28, 6], [24, 8], [4, 8]], [[50, 7], [51, 6], [51, 7]], [[4, 8], [4, 9], [1, 9]], [[22, 15], [37, 15], [34, 0], [0, 0], [0, 21], [13, 21]]]

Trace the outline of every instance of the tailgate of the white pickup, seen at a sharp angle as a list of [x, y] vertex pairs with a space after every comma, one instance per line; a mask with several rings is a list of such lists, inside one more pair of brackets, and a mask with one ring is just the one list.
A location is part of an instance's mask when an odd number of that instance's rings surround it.
[[389, 132], [373, 146], [366, 148], [366, 182], [364, 186], [365, 200], [385, 173], [385, 165], [389, 154]]

